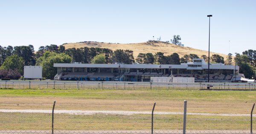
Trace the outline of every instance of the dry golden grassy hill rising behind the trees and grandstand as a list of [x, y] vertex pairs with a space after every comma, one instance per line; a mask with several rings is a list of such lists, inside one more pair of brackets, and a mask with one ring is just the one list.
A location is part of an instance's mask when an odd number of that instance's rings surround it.
[[[190, 48], [186, 46], [177, 46], [171, 43], [166, 43], [162, 41], [148, 41], [143, 43], [128, 43], [128, 44], [120, 44], [120, 43], [99, 43], [99, 42], [92, 42], [92, 41], [85, 41], [80, 43], [65, 43], [63, 44], [65, 48], [81, 48], [81, 47], [99, 47], [99, 48], [109, 48], [111, 50], [116, 49], [128, 49], [134, 51], [134, 58], [137, 57], [139, 53], [152, 53], [155, 54], [156, 52], [163, 52], [164, 55], [170, 55], [174, 52], [183, 57], [185, 54], [197, 54], [199, 57], [201, 55], [207, 55], [208, 51]], [[226, 59], [226, 54], [220, 54], [215, 52], [210, 52], [212, 54], [219, 54], [224, 59]]]

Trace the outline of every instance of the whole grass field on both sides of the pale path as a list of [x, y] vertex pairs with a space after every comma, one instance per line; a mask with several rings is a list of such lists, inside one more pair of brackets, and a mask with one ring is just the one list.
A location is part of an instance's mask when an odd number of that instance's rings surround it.
[[[256, 91], [0, 89], [0, 109], [250, 114]], [[150, 130], [150, 114], [55, 114], [55, 130]], [[253, 117], [256, 120], [256, 117]], [[183, 115], [154, 115], [154, 129], [180, 130]], [[253, 125], [255, 129], [256, 125]], [[51, 114], [0, 112], [0, 130], [50, 130]], [[188, 130], [248, 131], [249, 116], [187, 115]], [[12, 132], [12, 131], [9, 131]], [[203, 131], [204, 133], [204, 131]]]

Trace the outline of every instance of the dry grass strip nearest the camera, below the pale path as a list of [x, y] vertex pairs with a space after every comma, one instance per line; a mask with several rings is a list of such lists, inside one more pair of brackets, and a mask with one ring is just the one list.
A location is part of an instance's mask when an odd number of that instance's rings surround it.
[[[51, 114], [0, 113], [0, 119], [0, 129], [51, 129]], [[256, 118], [254, 117], [253, 120]], [[54, 125], [55, 130], [150, 130], [151, 115], [55, 114]], [[154, 129], [182, 129], [182, 127], [183, 115], [154, 115]], [[249, 130], [250, 117], [187, 115], [187, 129]]]

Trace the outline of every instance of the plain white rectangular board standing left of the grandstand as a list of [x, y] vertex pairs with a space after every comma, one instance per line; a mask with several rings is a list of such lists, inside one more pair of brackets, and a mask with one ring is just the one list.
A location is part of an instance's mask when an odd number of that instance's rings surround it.
[[24, 66], [24, 79], [42, 79], [42, 66]]

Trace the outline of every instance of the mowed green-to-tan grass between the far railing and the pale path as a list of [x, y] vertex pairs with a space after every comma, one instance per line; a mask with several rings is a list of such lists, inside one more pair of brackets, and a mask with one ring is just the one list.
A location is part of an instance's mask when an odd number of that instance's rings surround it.
[[0, 89], [0, 109], [56, 109], [250, 114], [256, 91]]

